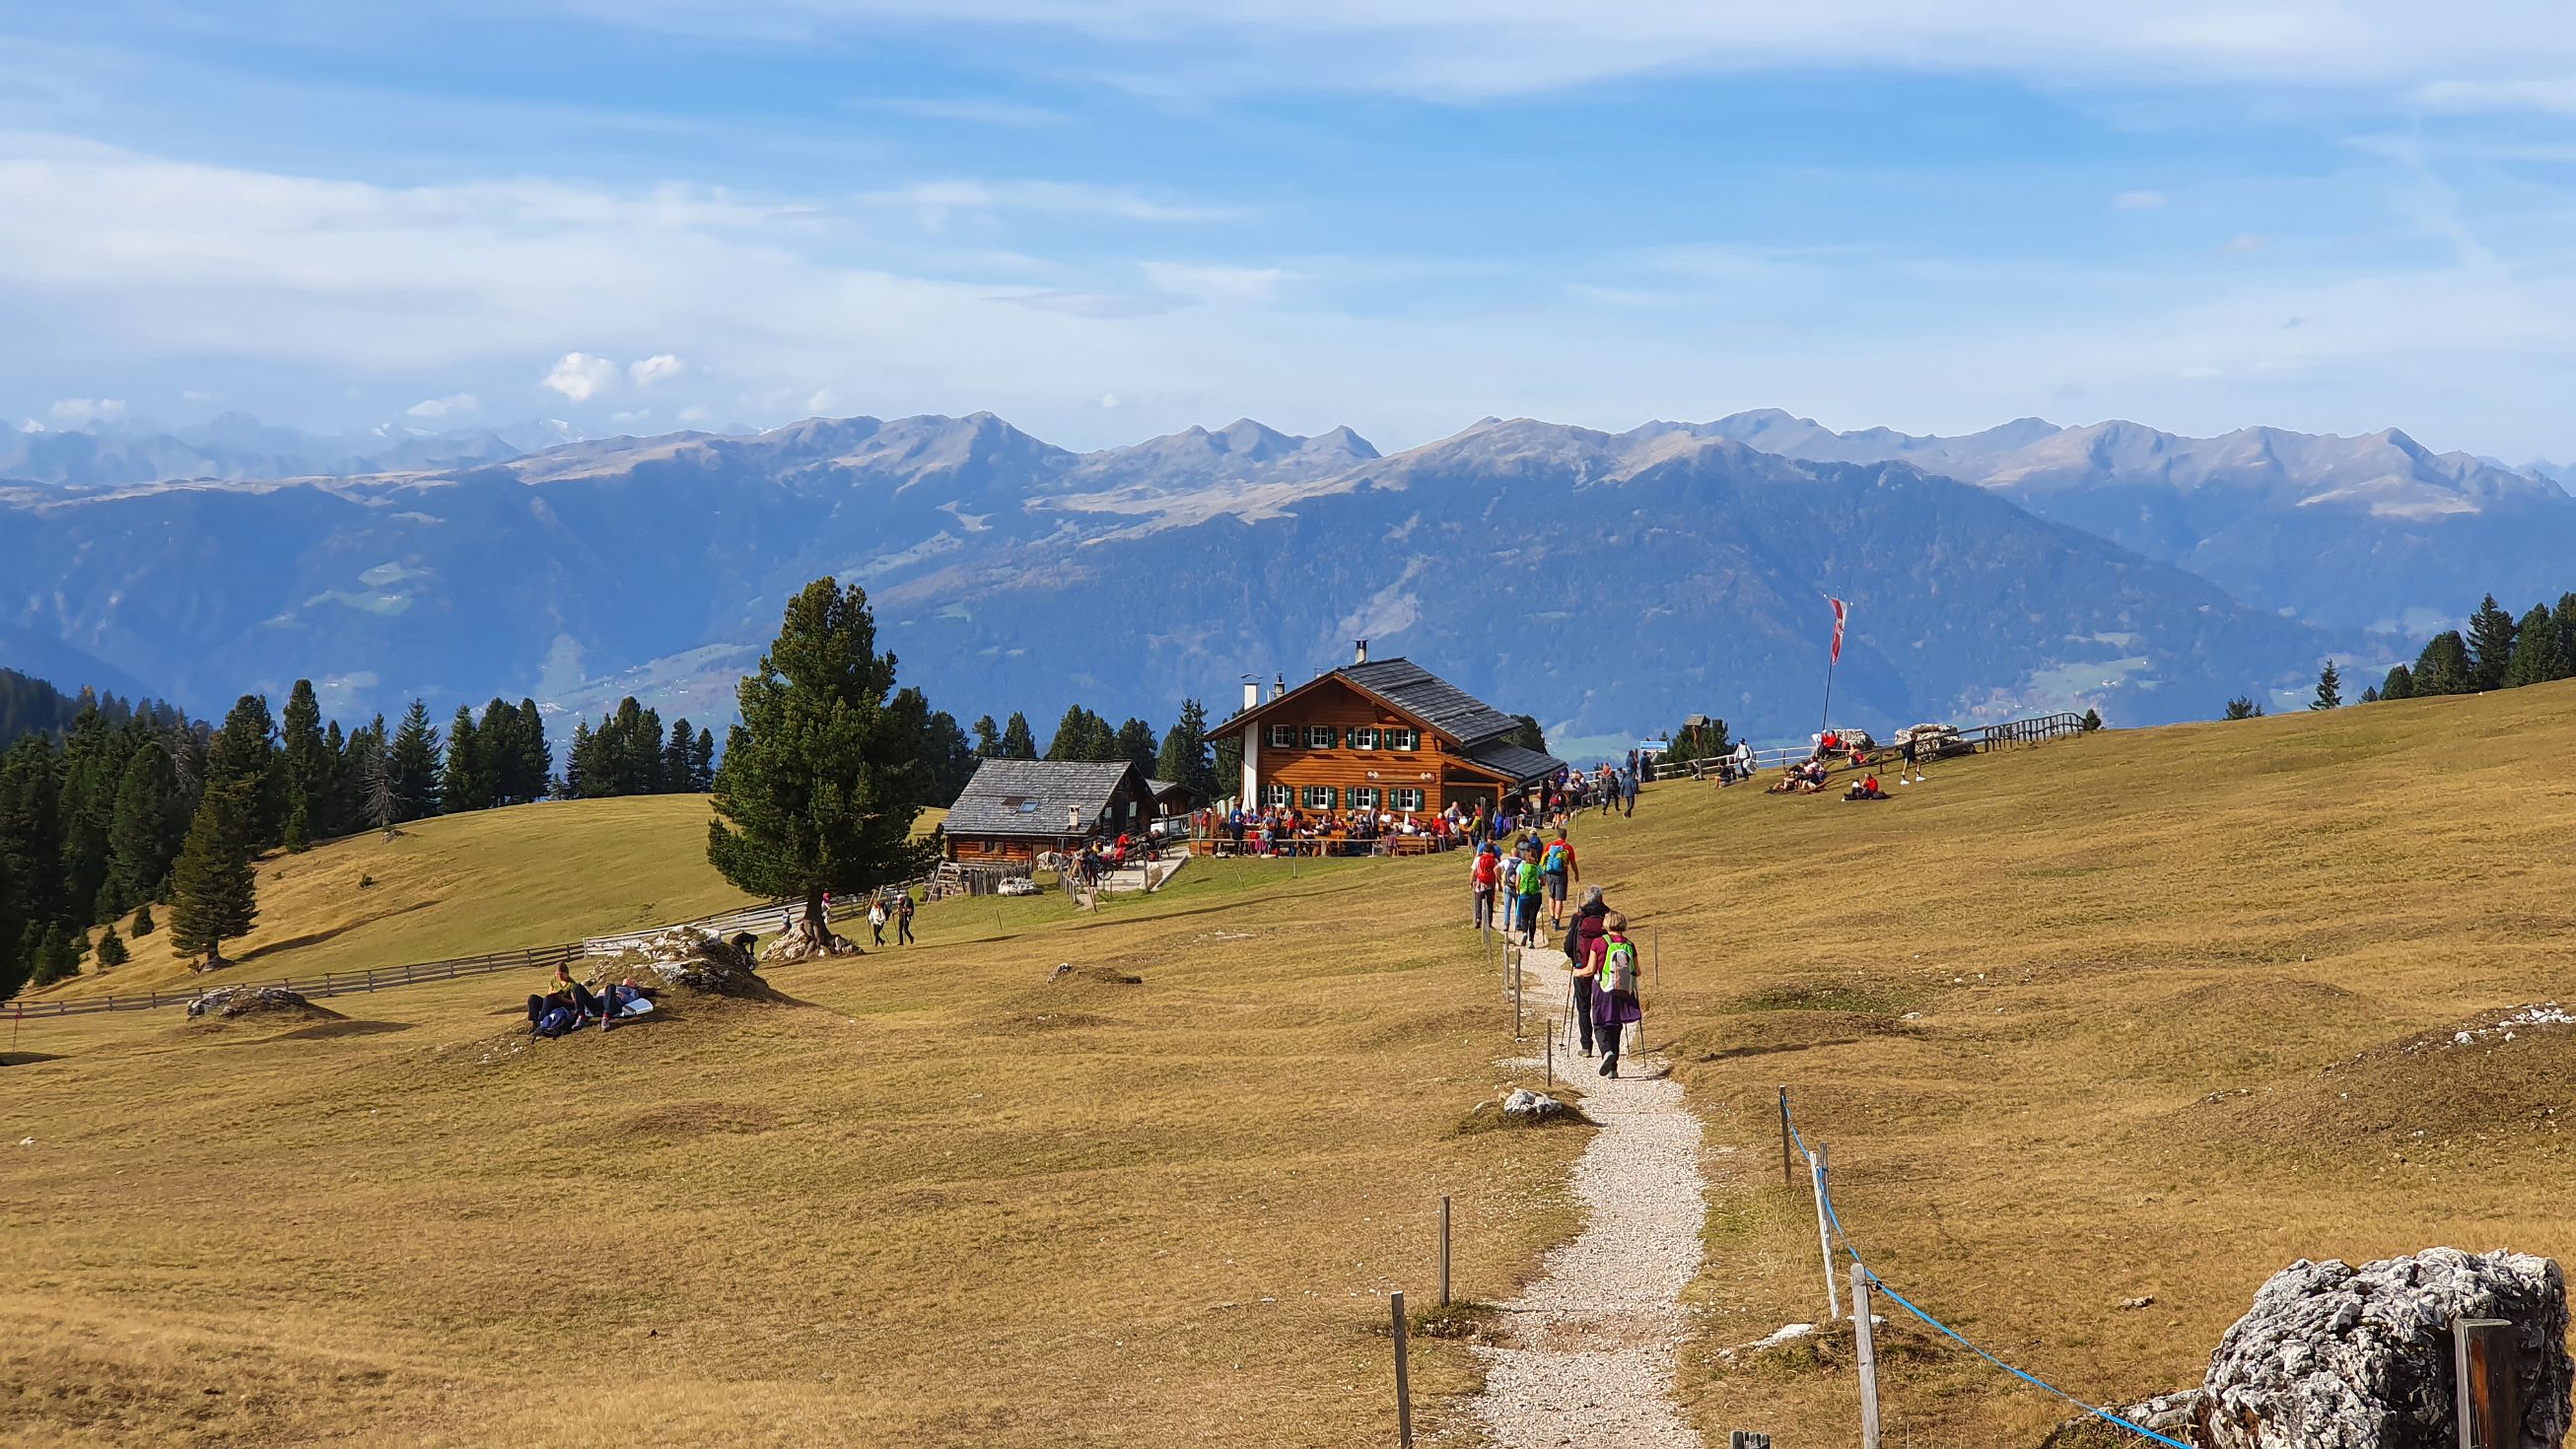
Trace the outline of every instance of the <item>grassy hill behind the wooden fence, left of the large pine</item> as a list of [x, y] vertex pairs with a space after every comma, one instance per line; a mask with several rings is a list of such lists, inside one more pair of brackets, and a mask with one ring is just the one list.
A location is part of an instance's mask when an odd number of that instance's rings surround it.
[[[366, 831], [260, 857], [260, 919], [196, 973], [170, 932], [131, 937], [134, 960], [28, 999], [142, 993], [224, 981], [368, 970], [683, 921], [750, 903], [706, 862], [706, 795], [546, 800]], [[160, 909], [167, 927], [170, 911]]]

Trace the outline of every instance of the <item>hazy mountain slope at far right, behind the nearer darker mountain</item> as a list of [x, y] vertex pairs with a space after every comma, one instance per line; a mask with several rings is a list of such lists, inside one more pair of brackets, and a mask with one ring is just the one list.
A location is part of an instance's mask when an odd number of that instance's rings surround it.
[[2398, 430], [2365, 438], [2244, 427], [2177, 438], [2136, 422], [2007, 422], [1965, 438], [1832, 432], [1777, 409], [1705, 425], [1785, 458], [1909, 461], [1991, 486], [2040, 517], [2184, 566], [2239, 600], [2336, 628], [2419, 633], [2496, 589], [2555, 600], [2576, 499], [2555, 481]]

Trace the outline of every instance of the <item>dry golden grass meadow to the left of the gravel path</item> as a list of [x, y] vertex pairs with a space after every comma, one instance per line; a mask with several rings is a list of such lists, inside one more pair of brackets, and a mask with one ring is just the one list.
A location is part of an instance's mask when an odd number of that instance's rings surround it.
[[[1587, 1138], [1458, 1132], [1510, 1009], [1448, 880], [935, 906], [922, 947], [775, 973], [793, 1004], [526, 1050], [515, 975], [343, 996], [332, 1035], [28, 1022], [0, 1439], [1383, 1439], [1437, 1197], [1504, 1297]], [[1468, 1374], [1417, 1346], [1427, 1418]]]

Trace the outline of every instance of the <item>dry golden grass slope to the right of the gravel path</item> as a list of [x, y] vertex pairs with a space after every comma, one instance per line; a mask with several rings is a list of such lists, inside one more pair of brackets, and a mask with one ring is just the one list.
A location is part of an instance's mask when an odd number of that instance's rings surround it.
[[[1777, 1084], [1873, 1266], [2097, 1403], [2197, 1382], [2300, 1256], [2576, 1251], [2576, 1029], [2401, 1050], [2576, 999], [2571, 705], [2105, 734], [1878, 806], [1664, 788], [1600, 834], [1584, 862], [1662, 929], [1656, 1040], [1736, 1148], [1685, 1364], [1710, 1441], [1857, 1436], [1847, 1369], [1716, 1359], [1824, 1313]], [[2035, 1444], [2074, 1413], [1935, 1341], [1886, 1400], [1917, 1444]]]

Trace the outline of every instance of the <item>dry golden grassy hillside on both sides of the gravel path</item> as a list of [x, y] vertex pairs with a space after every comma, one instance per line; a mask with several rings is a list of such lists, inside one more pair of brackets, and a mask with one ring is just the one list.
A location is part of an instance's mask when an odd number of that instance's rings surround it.
[[[1700, 1428], [1857, 1428], [1847, 1369], [1721, 1356], [1824, 1307], [1780, 1084], [1878, 1271], [2097, 1403], [2197, 1380], [2300, 1256], [2576, 1253], [2576, 1027], [2496, 1027], [2576, 965], [2571, 752], [2576, 685], [2545, 685], [1584, 821], [1710, 1130]], [[1571, 1230], [1584, 1140], [1458, 1132], [1515, 1048], [1455, 875], [943, 903], [920, 950], [775, 973], [791, 1006], [528, 1050], [510, 975], [327, 1029], [31, 1022], [0, 1102], [0, 1140], [33, 1138], [0, 1176], [10, 1416], [137, 1444], [1386, 1439], [1378, 1295], [1430, 1282], [1437, 1194], [1461, 1287], [1504, 1297]], [[1471, 1356], [1417, 1354], [1425, 1421], [1466, 1434]], [[2063, 1416], [1904, 1325], [1883, 1354], [1896, 1441]]]

